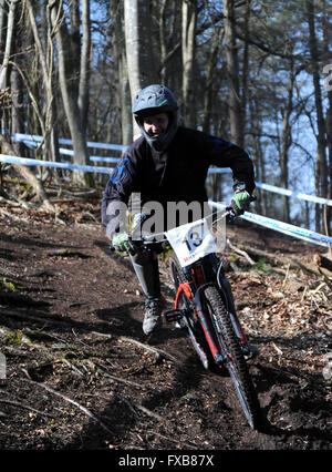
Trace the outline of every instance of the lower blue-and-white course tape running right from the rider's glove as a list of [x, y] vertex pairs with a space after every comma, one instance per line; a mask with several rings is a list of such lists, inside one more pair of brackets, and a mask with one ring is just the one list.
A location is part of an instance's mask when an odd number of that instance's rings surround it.
[[[216, 202], [209, 201], [211, 206], [216, 208], [225, 208], [224, 205], [220, 205]], [[319, 246], [329, 247], [332, 244], [332, 237], [322, 235], [320, 233], [311, 232], [310, 229], [301, 228], [299, 226], [290, 225], [288, 223], [279, 222], [277, 219], [268, 218], [266, 216], [256, 215], [253, 213], [245, 212], [243, 215], [240, 216], [243, 219], [247, 219], [250, 223], [256, 223], [260, 226], [264, 226], [269, 229], [274, 229], [279, 233], [287, 234], [289, 236], [297, 237], [299, 239], [303, 239], [308, 243], [313, 243]]]

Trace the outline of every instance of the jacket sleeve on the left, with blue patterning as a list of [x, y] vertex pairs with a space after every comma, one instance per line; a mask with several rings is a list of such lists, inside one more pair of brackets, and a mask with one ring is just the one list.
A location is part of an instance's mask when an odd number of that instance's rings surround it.
[[111, 174], [103, 194], [102, 226], [110, 239], [114, 233], [128, 229], [126, 208], [135, 181], [135, 157], [128, 151]]

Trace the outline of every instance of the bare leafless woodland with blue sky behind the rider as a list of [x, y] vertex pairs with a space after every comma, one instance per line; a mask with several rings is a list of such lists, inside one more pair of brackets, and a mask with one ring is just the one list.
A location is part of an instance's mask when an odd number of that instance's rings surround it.
[[[86, 142], [129, 144], [134, 94], [164, 83], [185, 125], [250, 153], [258, 182], [332, 198], [331, 13], [331, 0], [0, 0], [1, 152], [61, 161], [69, 137], [73, 162], [91, 165]], [[43, 141], [32, 151], [13, 133]], [[15, 171], [41, 199], [61, 177]], [[209, 178], [215, 199], [229, 188]], [[258, 213], [331, 232], [329, 207], [258, 193]]]

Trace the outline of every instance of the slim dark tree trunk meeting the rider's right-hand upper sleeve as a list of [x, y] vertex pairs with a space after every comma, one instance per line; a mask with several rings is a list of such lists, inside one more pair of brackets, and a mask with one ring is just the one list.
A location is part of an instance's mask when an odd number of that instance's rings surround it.
[[243, 145], [238, 50], [236, 44], [235, 0], [224, 0], [227, 74], [229, 84], [230, 141]]

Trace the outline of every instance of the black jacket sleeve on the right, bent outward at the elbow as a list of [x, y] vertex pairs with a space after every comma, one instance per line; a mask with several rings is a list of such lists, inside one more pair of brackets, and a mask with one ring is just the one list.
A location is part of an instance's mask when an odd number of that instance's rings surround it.
[[236, 144], [207, 134], [204, 136], [204, 143], [208, 151], [210, 164], [231, 168], [234, 188], [238, 184], [246, 184], [247, 191], [252, 194], [256, 187], [255, 172], [249, 155]]

